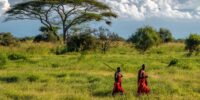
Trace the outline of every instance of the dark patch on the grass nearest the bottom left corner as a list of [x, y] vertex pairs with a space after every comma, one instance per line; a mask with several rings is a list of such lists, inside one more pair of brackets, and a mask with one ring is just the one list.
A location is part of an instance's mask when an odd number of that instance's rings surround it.
[[6, 83], [16, 83], [19, 81], [19, 78], [17, 76], [6, 76], [6, 77], [0, 77], [0, 81]]

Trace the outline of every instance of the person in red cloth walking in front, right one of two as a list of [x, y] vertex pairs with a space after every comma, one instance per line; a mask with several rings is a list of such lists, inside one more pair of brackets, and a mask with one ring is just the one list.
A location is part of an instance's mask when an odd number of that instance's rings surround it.
[[142, 65], [142, 68], [138, 71], [138, 90], [137, 95], [140, 96], [141, 94], [149, 94], [150, 89], [147, 83], [147, 74], [145, 73], [145, 65]]

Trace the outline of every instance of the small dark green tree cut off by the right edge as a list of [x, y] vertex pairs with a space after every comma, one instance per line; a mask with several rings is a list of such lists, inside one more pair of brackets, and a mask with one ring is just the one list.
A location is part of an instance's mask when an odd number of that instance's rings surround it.
[[200, 46], [200, 35], [198, 34], [190, 34], [189, 38], [185, 41], [186, 50], [189, 50], [189, 54], [191, 55], [193, 52], [199, 52]]

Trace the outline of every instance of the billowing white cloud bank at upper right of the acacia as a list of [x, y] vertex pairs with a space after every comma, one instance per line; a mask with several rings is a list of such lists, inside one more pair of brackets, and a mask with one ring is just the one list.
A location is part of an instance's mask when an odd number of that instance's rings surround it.
[[99, 0], [110, 5], [120, 17], [135, 20], [159, 17], [200, 19], [200, 0]]

